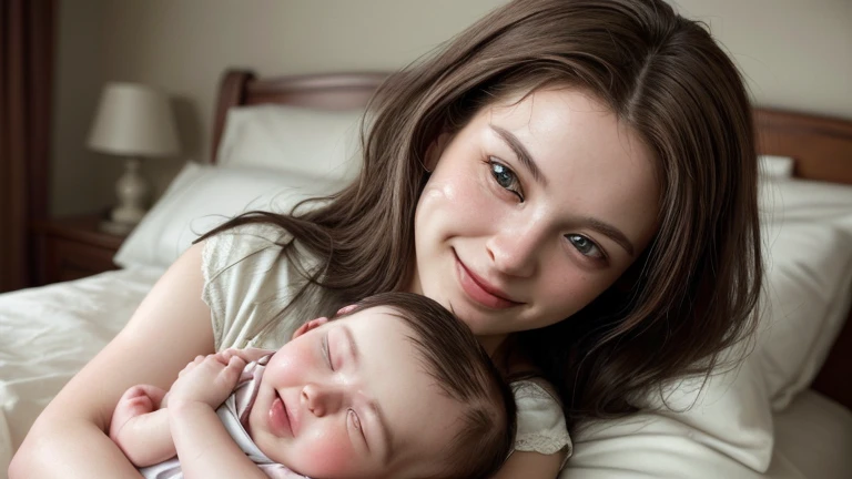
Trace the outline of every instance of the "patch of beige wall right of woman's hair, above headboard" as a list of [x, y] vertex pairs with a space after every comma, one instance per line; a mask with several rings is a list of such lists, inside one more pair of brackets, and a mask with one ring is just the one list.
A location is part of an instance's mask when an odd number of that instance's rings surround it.
[[674, 0], [704, 21], [754, 102], [852, 120], [852, 0]]

